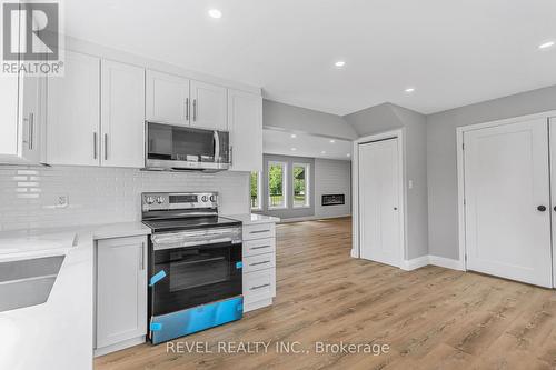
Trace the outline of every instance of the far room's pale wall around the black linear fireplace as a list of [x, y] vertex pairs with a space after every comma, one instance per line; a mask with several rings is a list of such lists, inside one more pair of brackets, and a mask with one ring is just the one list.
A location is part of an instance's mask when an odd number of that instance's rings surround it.
[[[315, 216], [351, 214], [351, 161], [315, 158]], [[341, 206], [322, 206], [322, 194], [345, 194]]]

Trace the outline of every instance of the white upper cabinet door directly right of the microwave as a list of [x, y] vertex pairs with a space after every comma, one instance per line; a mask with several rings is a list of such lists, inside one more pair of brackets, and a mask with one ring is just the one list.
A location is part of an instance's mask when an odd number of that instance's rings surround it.
[[231, 170], [262, 171], [262, 98], [228, 90]]

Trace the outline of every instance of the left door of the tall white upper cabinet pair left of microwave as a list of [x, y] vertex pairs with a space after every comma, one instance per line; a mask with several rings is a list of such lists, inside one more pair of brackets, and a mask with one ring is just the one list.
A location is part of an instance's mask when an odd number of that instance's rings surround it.
[[48, 79], [47, 162], [98, 166], [100, 59], [66, 51], [64, 66]]

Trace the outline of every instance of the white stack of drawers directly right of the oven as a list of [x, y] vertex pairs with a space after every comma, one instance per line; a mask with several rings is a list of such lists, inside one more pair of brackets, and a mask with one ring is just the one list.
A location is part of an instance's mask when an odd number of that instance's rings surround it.
[[276, 297], [274, 223], [244, 226], [244, 312], [272, 304]]

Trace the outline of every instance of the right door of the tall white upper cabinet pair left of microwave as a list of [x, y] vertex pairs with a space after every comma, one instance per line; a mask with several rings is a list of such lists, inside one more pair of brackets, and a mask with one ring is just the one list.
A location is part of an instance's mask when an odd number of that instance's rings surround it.
[[145, 166], [145, 70], [102, 61], [101, 163]]

